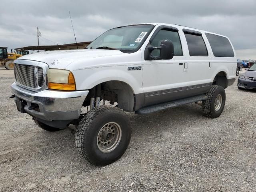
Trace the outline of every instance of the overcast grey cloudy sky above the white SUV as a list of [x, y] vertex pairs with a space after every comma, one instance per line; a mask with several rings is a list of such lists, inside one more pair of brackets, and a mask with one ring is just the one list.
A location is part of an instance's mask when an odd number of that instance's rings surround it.
[[180, 24], [228, 36], [238, 58], [256, 59], [256, 0], [1, 0], [0, 46], [91, 41], [110, 28]]

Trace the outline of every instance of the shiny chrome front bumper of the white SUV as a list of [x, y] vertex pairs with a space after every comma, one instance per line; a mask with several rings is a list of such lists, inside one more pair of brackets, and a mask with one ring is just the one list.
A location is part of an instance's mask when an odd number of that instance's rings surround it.
[[[24, 110], [28, 114], [46, 121], [78, 119], [82, 104], [89, 92], [88, 90], [34, 92], [22, 88], [16, 83], [13, 83], [11, 88], [16, 100], [26, 101]], [[33, 104], [38, 104], [39, 110], [29, 110], [28, 107]]]

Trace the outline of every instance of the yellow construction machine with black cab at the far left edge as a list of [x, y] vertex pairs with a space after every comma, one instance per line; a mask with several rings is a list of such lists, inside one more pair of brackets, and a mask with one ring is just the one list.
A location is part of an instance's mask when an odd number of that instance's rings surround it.
[[14, 60], [21, 56], [21, 54], [8, 53], [7, 47], [0, 47], [0, 67], [14, 70]]

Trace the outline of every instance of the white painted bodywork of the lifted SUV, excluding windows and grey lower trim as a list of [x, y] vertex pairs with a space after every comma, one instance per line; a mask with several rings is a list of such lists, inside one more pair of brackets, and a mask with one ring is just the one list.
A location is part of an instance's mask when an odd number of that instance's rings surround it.
[[[222, 71], [228, 79], [235, 78], [237, 60], [233, 47], [233, 58], [214, 57], [204, 31], [171, 24], [154, 25], [155, 28], [140, 50], [134, 53], [119, 50], [61, 50], [29, 54], [19, 59], [40, 61], [48, 64], [49, 68], [70, 70], [74, 74], [77, 90], [88, 90], [99, 83], [118, 80], [126, 82], [134, 94], [138, 94], [210, 83]], [[174, 56], [171, 60], [145, 61], [146, 45], [156, 28], [162, 25], [178, 28], [183, 56]], [[202, 33], [209, 56], [189, 55], [183, 28]], [[187, 63], [186, 70], [184, 65], [179, 65], [184, 62]], [[142, 66], [142, 70], [128, 71], [130, 66]]]

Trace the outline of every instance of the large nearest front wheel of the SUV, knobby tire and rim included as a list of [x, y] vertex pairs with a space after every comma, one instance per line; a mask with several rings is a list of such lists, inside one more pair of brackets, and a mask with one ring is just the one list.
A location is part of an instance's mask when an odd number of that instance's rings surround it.
[[76, 129], [76, 146], [84, 158], [98, 166], [111, 164], [126, 151], [131, 138], [128, 116], [117, 107], [98, 106], [82, 118]]

